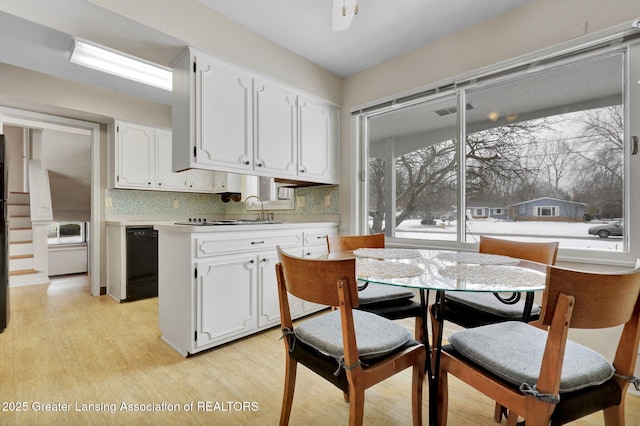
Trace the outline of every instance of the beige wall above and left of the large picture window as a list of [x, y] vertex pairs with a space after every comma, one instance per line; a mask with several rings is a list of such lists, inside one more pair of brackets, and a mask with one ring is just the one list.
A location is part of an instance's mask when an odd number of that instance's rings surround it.
[[[358, 169], [351, 143], [351, 110], [386, 97], [554, 46], [640, 17], [640, 2], [531, 0], [503, 15], [348, 77], [343, 83], [340, 224], [350, 227], [352, 182]], [[357, 230], [351, 230], [357, 232]]]

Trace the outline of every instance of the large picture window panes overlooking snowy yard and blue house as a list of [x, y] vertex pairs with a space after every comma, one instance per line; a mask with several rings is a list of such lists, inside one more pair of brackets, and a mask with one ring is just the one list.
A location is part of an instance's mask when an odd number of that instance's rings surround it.
[[368, 232], [628, 250], [624, 232], [589, 233], [622, 220], [628, 202], [625, 55], [503, 73], [366, 116]]

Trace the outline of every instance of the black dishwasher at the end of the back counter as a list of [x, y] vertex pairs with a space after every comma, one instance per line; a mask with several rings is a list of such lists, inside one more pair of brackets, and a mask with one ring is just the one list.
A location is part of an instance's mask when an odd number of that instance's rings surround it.
[[158, 231], [127, 226], [127, 292], [123, 301], [158, 295]]

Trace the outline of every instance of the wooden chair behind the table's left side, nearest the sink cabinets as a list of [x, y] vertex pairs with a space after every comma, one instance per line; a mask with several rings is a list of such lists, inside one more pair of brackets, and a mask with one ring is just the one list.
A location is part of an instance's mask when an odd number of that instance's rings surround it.
[[[384, 234], [327, 235], [329, 253], [353, 251], [360, 248], [384, 248]], [[407, 288], [368, 283], [358, 292], [358, 308], [387, 319], [415, 318], [415, 339], [423, 341], [422, 306], [412, 300], [415, 293]]]

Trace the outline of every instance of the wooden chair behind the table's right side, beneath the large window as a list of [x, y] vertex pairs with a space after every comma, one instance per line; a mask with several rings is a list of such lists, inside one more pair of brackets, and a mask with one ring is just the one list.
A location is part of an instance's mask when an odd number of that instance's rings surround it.
[[[558, 242], [522, 242], [480, 236], [480, 253], [497, 254], [555, 265]], [[517, 297], [520, 297], [519, 295]], [[493, 293], [450, 292], [444, 299], [444, 319], [465, 328], [524, 318], [525, 301], [506, 304]], [[540, 306], [533, 304], [530, 321], [538, 319]]]

